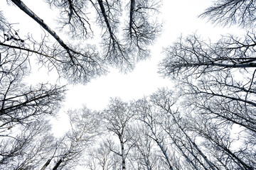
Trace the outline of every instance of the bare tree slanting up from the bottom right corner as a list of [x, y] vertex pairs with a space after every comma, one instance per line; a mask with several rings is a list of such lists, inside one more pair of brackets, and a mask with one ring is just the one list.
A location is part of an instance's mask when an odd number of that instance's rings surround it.
[[218, 121], [206, 116], [198, 116], [191, 122], [190, 129], [205, 139], [204, 145], [207, 145], [208, 148], [212, 147], [213, 153], [215, 153], [212, 157], [217, 156], [217, 160], [222, 163], [223, 168], [255, 169], [255, 161], [253, 161], [255, 151], [246, 144], [238, 147], [236, 142], [240, 140], [240, 135], [238, 138], [231, 135], [228, 126], [221, 125]]

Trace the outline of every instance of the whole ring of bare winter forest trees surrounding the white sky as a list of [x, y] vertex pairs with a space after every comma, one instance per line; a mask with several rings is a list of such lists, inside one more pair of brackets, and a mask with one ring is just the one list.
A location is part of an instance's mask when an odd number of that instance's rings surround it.
[[[198, 18], [243, 31], [218, 40], [176, 35], [158, 63], [172, 85], [131, 101], [113, 96], [100, 111], [69, 109], [60, 136], [50, 120], [70, 85], [150, 60], [164, 26], [162, 1], [44, 0], [59, 14], [58, 28], [26, 0], [1, 3], [41, 29], [26, 33], [0, 6], [0, 169], [256, 169], [255, 0], [211, 1]], [[56, 74], [55, 84], [29, 84], [35, 68]]]

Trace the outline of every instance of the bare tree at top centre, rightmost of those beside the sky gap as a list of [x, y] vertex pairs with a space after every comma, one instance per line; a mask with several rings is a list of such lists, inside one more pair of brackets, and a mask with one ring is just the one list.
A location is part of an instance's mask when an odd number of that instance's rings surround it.
[[137, 60], [149, 56], [149, 49], [146, 46], [152, 44], [161, 31], [161, 25], [154, 21], [159, 6], [160, 1], [145, 0], [130, 0], [127, 4], [129, 24], [124, 28], [124, 38], [129, 43], [129, 48], [137, 49]]

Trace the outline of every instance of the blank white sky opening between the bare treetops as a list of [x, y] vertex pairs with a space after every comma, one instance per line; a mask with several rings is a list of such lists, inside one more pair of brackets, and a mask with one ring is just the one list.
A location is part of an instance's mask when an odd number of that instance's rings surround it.
[[[212, 24], [207, 23], [206, 19], [198, 18], [198, 15], [212, 4], [210, 0], [163, 0], [163, 2], [161, 15], [164, 19], [164, 31], [156, 41], [156, 44], [151, 47], [151, 59], [139, 62], [136, 69], [128, 74], [121, 74], [112, 69], [107, 76], [93, 79], [86, 86], [68, 86], [70, 90], [66, 95], [65, 103], [63, 103], [63, 109], [59, 113], [59, 120], [53, 121], [54, 132], [60, 132], [60, 130], [65, 129], [63, 125], [67, 123], [67, 119], [63, 116], [63, 113], [68, 108], [80, 108], [82, 104], [85, 104], [88, 108], [100, 110], [107, 106], [110, 97], [118, 96], [124, 101], [129, 101], [149, 95], [160, 87], [171, 86], [170, 80], [162, 79], [157, 74], [157, 64], [164, 57], [161, 54], [162, 47], [171, 45], [181, 33], [183, 37], [197, 33], [198, 35], [203, 35], [203, 38], [218, 40], [220, 34], [225, 35], [225, 33], [238, 31], [235, 28], [214, 27]], [[53, 20], [56, 18], [53, 18], [53, 16], [58, 15], [58, 13], [50, 10], [46, 3], [42, 0], [23, 0], [23, 3], [41, 17], [53, 30], [57, 30]], [[19, 28], [20, 32], [25, 33], [25, 35], [26, 33], [35, 33], [36, 30], [41, 31], [38, 24], [26, 16], [19, 8], [6, 6], [6, 1], [0, 1], [0, 11], [4, 12], [4, 16], [10, 23], [19, 23], [16, 28]], [[34, 36], [35, 38], [40, 38], [41, 35]], [[38, 72], [37, 69], [37, 67], [33, 67], [33, 74], [28, 78], [28, 81], [32, 83], [48, 81], [53, 84], [56, 82], [54, 73], [47, 73], [46, 69], [40, 69]], [[60, 82], [65, 81], [60, 80]]]

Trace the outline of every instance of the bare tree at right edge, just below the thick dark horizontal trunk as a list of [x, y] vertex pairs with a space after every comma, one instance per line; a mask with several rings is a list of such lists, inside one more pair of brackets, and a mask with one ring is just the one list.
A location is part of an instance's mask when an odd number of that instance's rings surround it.
[[245, 84], [235, 81], [231, 74], [214, 74], [197, 84], [183, 81], [183, 94], [197, 113], [255, 132], [255, 83], [251, 81]]

